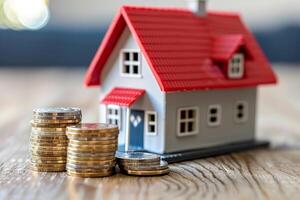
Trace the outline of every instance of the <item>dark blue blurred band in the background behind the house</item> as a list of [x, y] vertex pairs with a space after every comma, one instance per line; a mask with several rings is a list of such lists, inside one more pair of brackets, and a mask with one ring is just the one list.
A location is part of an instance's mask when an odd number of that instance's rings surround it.
[[[86, 66], [105, 31], [0, 31], [0, 66]], [[300, 27], [254, 34], [271, 62], [300, 62]]]

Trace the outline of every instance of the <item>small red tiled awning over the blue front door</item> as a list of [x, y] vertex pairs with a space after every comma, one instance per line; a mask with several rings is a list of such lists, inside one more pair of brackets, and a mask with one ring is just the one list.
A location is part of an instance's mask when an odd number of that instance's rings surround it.
[[145, 90], [132, 88], [114, 88], [112, 91], [110, 91], [110, 93], [108, 93], [108, 95], [106, 95], [101, 103], [130, 107], [144, 93]]

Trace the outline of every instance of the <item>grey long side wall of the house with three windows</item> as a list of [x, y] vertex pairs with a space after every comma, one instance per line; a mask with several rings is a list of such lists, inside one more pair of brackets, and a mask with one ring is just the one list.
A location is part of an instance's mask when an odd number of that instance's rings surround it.
[[[248, 102], [249, 117], [244, 123], [234, 121], [237, 101]], [[167, 93], [166, 103], [166, 153], [254, 139], [256, 88]], [[209, 127], [208, 107], [214, 104], [222, 107], [221, 124]], [[199, 110], [199, 133], [196, 135], [177, 136], [177, 110], [184, 107]]]

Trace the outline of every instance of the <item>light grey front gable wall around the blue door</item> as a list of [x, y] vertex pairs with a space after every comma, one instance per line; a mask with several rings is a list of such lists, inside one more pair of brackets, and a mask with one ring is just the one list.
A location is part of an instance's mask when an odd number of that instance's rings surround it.
[[[114, 87], [127, 87], [136, 89], [145, 89], [146, 92], [132, 107], [134, 110], [144, 110], [157, 112], [157, 132], [155, 136], [148, 136], [144, 133], [144, 149], [154, 152], [164, 151], [164, 116], [165, 116], [165, 94], [160, 88], [151, 72], [142, 53], [141, 56], [141, 78], [124, 77], [120, 73], [120, 52], [122, 49], [138, 50], [139, 47], [135, 42], [130, 30], [126, 27], [110, 55], [103, 73], [101, 75], [100, 99], [103, 99]], [[119, 135], [119, 144], [125, 142], [126, 113], [122, 110], [122, 128]], [[100, 104], [100, 122], [106, 122], [105, 106]]]

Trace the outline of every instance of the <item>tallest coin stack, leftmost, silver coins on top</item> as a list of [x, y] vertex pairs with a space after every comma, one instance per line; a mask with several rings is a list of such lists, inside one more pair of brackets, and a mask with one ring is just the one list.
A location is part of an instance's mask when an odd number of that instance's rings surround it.
[[31, 169], [39, 172], [66, 170], [66, 127], [81, 122], [79, 108], [41, 108], [31, 121]]

